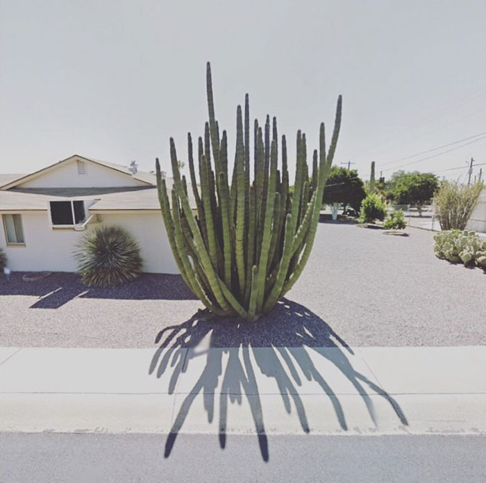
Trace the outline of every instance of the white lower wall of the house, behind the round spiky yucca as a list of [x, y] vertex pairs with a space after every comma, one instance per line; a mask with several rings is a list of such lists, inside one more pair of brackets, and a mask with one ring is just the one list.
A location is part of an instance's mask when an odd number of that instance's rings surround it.
[[[74, 272], [76, 262], [73, 252], [85, 231], [52, 229], [47, 211], [26, 211], [19, 214], [22, 215], [25, 246], [6, 245], [3, 224], [0, 224], [0, 246], [6, 252], [10, 269], [21, 272]], [[101, 214], [99, 218], [103, 223], [118, 224], [130, 231], [140, 244], [144, 272], [178, 273], [160, 212], [126, 211], [119, 214]], [[90, 224], [88, 229], [94, 226]]]

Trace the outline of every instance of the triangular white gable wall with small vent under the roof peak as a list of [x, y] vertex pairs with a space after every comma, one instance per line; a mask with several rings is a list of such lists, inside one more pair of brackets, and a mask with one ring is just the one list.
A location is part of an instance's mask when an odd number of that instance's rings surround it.
[[[85, 162], [86, 173], [78, 174], [76, 160]], [[110, 167], [98, 165], [83, 158], [73, 158], [56, 169], [40, 174], [38, 177], [19, 184], [18, 188], [119, 188], [124, 186], [147, 186], [146, 183], [133, 179]]]

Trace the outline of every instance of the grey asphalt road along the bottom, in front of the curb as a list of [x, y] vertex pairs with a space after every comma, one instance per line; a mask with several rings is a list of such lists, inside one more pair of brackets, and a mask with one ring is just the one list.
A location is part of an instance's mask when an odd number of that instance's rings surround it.
[[2, 483], [355, 482], [483, 483], [485, 436], [1, 434]]

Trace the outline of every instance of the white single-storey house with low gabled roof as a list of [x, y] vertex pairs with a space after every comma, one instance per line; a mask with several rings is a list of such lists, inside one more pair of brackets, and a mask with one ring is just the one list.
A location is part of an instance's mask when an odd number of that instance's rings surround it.
[[[13, 178], [13, 179], [12, 179]], [[171, 179], [166, 179], [170, 189]], [[27, 175], [0, 175], [0, 247], [14, 271], [74, 272], [87, 230], [117, 224], [140, 245], [144, 272], [177, 273], [155, 174], [70, 156]]]

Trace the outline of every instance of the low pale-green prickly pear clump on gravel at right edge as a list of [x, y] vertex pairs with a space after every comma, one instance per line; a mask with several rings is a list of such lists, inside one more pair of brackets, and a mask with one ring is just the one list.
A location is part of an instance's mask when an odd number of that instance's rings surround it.
[[464, 265], [477, 263], [486, 269], [486, 240], [481, 240], [475, 231], [442, 231], [434, 236], [434, 240], [434, 251], [439, 259]]

